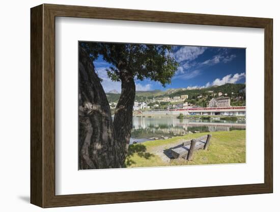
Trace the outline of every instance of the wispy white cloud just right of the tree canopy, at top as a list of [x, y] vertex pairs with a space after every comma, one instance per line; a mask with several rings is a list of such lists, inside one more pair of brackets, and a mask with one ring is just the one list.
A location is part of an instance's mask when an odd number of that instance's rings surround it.
[[197, 46], [182, 46], [177, 50], [173, 55], [177, 62], [182, 62], [185, 60], [191, 61], [203, 54], [206, 50], [206, 47], [197, 47]]

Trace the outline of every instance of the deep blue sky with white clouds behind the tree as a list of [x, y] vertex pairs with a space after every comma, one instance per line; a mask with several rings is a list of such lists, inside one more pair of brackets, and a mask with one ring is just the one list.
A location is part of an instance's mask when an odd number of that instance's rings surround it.
[[[146, 79], [136, 81], [136, 90], [166, 90], [170, 88], [197, 88], [219, 86], [226, 83], [245, 83], [245, 49], [228, 47], [173, 46], [172, 57], [179, 68], [172, 83], [162, 87], [160, 83]], [[99, 57], [94, 61], [95, 68], [105, 92], [121, 91], [120, 82], [112, 82], [105, 71], [110, 66]]]

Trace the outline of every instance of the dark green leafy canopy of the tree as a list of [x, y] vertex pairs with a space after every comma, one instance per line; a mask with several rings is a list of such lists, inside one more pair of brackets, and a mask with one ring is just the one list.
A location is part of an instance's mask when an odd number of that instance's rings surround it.
[[121, 73], [126, 71], [134, 80], [150, 78], [165, 86], [171, 83], [179, 65], [170, 56], [171, 45], [96, 42], [80, 42], [80, 45], [93, 61], [102, 56], [110, 64], [106, 71], [112, 81], [121, 81]]

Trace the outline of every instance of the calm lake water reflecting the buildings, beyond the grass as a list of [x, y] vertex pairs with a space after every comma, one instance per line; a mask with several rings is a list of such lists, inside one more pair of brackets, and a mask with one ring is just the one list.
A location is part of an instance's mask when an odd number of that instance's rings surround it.
[[141, 143], [150, 141], [149, 138], [161, 137], [171, 138], [173, 136], [184, 135], [188, 131], [230, 131], [244, 130], [245, 120], [225, 121], [225, 120], [202, 120], [202, 119], [177, 119], [177, 118], [146, 118], [133, 117], [133, 129], [130, 143], [136, 141]]

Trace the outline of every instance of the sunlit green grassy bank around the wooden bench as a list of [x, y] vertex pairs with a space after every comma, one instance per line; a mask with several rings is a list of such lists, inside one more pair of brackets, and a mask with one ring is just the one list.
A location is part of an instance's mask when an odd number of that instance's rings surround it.
[[189, 134], [172, 139], [130, 145], [126, 165], [127, 167], [156, 167], [245, 163], [245, 133], [245, 130], [212, 132], [208, 150], [195, 151], [192, 161], [182, 158], [165, 160], [166, 156], [163, 151], [181, 144], [183, 140], [198, 138], [207, 133]]

